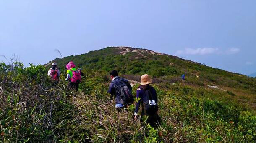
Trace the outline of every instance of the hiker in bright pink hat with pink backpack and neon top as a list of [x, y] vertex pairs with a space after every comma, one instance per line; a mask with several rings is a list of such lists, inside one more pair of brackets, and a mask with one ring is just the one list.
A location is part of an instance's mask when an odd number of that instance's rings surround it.
[[67, 68], [67, 78], [66, 81], [68, 83], [68, 89], [75, 89], [78, 91], [79, 83], [81, 81], [81, 73], [79, 70], [76, 70], [76, 65], [71, 61], [66, 65]]

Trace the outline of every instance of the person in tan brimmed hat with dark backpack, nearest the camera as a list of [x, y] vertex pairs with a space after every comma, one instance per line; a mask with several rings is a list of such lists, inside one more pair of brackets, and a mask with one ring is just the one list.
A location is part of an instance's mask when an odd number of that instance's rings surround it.
[[137, 120], [138, 113], [141, 113], [141, 121], [142, 117], [149, 116], [147, 118], [147, 123], [152, 127], [158, 127], [160, 125], [161, 118], [157, 114], [157, 92], [150, 85], [152, 81], [152, 78], [147, 74], [141, 76], [141, 85], [138, 87], [136, 95], [136, 98], [140, 98], [140, 100], [136, 103], [134, 120]]

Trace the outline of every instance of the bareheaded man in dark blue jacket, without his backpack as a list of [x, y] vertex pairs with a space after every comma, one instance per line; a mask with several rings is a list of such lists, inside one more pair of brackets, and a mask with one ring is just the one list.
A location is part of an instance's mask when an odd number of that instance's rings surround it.
[[127, 79], [120, 78], [118, 76], [118, 72], [116, 70], [113, 70], [110, 72], [110, 77], [112, 82], [110, 83], [109, 90], [107, 91], [112, 95], [112, 97], [115, 97], [115, 108], [120, 111], [120, 109], [123, 109], [126, 107], [126, 104], [121, 99], [121, 91], [118, 85], [125, 83], [128, 88], [132, 91], [132, 87]]

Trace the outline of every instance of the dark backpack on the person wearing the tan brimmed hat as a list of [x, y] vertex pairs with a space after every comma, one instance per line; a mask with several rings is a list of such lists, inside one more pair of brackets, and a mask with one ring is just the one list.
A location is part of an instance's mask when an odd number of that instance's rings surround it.
[[146, 108], [146, 113], [148, 115], [153, 115], [158, 111], [158, 105], [157, 105], [157, 99], [156, 97], [152, 96], [151, 93], [151, 88], [146, 89], [146, 103], [145, 103], [145, 108]]

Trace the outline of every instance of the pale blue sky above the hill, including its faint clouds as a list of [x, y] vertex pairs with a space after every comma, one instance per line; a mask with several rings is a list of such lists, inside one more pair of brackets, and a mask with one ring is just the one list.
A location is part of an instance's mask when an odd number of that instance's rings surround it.
[[107, 46], [248, 75], [256, 72], [256, 0], [0, 1], [0, 55], [7, 58], [44, 64], [60, 57], [55, 48], [68, 56]]

